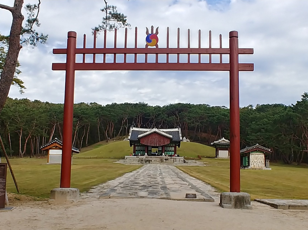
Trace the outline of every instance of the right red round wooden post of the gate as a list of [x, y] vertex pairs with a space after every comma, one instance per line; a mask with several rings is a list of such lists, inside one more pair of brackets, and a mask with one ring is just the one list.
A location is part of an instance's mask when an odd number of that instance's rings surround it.
[[241, 192], [238, 32], [229, 33], [230, 48], [230, 192]]

